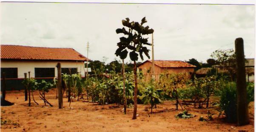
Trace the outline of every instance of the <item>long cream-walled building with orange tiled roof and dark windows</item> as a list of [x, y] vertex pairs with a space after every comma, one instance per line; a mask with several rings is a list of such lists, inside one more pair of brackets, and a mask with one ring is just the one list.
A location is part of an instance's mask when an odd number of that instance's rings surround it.
[[30, 77], [36, 80], [53, 80], [57, 77], [58, 62], [61, 63], [62, 73], [79, 73], [85, 77], [84, 61], [86, 60], [88, 58], [72, 48], [1, 45], [1, 75], [5, 72], [9, 90], [23, 89], [21, 82], [24, 79], [24, 73], [28, 71], [30, 71]]

